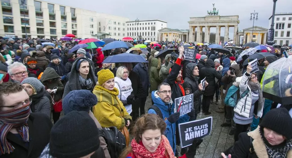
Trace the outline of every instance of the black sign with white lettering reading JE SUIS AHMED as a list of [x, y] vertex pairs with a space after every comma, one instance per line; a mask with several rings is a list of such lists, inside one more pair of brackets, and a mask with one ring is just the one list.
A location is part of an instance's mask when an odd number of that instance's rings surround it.
[[194, 139], [203, 139], [208, 136], [212, 130], [212, 121], [212, 117], [207, 117], [179, 124], [181, 147], [192, 145]]

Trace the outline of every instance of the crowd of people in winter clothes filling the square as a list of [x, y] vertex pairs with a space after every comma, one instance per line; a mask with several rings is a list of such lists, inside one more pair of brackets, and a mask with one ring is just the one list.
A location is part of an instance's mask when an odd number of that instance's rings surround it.
[[[70, 52], [78, 40], [50, 42], [55, 45], [30, 38], [1, 40], [0, 157], [111, 158], [109, 141], [99, 130], [115, 127], [127, 146], [120, 158], [193, 158], [203, 140], [194, 139], [179, 153], [178, 124], [197, 120], [200, 112], [211, 116], [213, 102], [218, 105], [216, 113], [225, 113], [221, 126], [231, 127], [229, 135], [234, 135], [227, 157], [292, 157], [292, 105], [278, 105], [262, 92], [263, 76], [270, 75], [266, 68], [285, 51], [291, 55], [289, 47], [276, 47], [252, 73], [251, 65], [243, 65], [246, 58], [237, 62], [240, 51], [234, 49], [222, 53], [189, 43], [200, 54], [189, 61], [184, 43], [135, 41], [132, 44], [146, 45], [147, 54], [133, 52], [145, 62], [103, 63], [127, 49]], [[157, 56], [165, 49], [173, 51]], [[234, 88], [237, 102], [231, 107], [225, 98]], [[286, 93], [292, 96], [291, 88]], [[180, 116], [174, 100], [188, 94], [194, 96], [194, 109]], [[145, 111], [147, 97], [152, 106]]]

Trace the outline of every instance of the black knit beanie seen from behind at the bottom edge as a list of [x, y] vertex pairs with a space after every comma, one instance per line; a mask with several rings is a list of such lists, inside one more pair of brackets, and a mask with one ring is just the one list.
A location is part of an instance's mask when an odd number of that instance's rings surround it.
[[91, 154], [99, 148], [98, 128], [87, 112], [69, 112], [52, 127], [49, 148], [57, 158]]

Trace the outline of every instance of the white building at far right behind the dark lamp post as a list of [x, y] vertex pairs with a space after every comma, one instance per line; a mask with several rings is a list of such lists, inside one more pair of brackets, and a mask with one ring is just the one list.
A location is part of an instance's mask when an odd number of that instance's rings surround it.
[[[290, 13], [275, 13], [274, 20], [274, 41], [278, 45], [291, 45], [292, 43], [292, 12]], [[272, 16], [269, 18], [269, 25], [272, 24]]]

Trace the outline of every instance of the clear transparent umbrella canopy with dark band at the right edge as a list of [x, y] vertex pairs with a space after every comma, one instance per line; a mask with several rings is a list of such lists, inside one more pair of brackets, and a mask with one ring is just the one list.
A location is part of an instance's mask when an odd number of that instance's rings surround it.
[[292, 104], [292, 96], [285, 91], [292, 85], [292, 56], [280, 58], [266, 68], [262, 81], [263, 97], [282, 105]]

